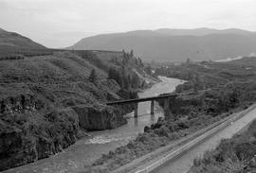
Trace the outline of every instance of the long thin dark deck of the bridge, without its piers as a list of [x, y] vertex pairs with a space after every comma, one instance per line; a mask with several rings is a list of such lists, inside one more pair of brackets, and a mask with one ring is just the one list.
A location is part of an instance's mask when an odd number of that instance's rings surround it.
[[118, 100], [118, 101], [108, 102], [106, 103], [106, 105], [138, 103], [138, 102], [151, 101], [151, 100], [157, 100], [160, 98], [175, 97], [175, 96], [176, 96], [175, 94], [170, 94], [170, 95], [157, 95], [157, 96], [150, 96], [150, 97], [144, 97], [144, 98]]

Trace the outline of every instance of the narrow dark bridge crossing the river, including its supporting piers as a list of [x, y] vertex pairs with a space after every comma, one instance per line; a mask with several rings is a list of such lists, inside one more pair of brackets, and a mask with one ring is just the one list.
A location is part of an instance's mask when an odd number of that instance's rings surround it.
[[[136, 104], [135, 109], [135, 117], [137, 117], [137, 104], [139, 102], [151, 101], [151, 114], [154, 114], [154, 105], [157, 100], [163, 99], [164, 100], [164, 112], [169, 112], [169, 104], [170, 99], [176, 97], [175, 94], [164, 94], [164, 95], [157, 95], [157, 96], [149, 96], [143, 98], [134, 98], [134, 99], [126, 99], [126, 100], [118, 100], [106, 103], [106, 105], [114, 106], [114, 105], [123, 105], [123, 104]], [[170, 113], [170, 112], [169, 112]]]

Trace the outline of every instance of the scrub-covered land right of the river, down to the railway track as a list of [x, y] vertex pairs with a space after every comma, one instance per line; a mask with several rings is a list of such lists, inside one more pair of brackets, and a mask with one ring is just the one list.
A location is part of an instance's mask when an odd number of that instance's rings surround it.
[[[214, 66], [215, 69], [212, 69]], [[218, 73], [210, 75], [212, 71], [218, 71], [223, 66], [227, 67], [229, 73], [233, 68], [236, 69], [235, 72], [243, 71], [241, 74], [245, 74], [247, 80], [238, 80], [241, 77], [234, 76], [219, 77]], [[85, 168], [83, 172], [111, 172], [156, 148], [167, 146], [177, 139], [206, 128], [233, 112], [240, 112], [256, 101], [255, 80], [251, 80], [255, 78], [255, 74], [248, 75], [239, 63], [213, 64], [211, 67], [185, 64], [178, 70], [180, 74], [174, 72], [176, 76], [189, 75], [189, 82], [176, 88], [179, 96], [170, 101], [172, 113], [165, 114], [165, 119], [159, 119], [155, 125], [145, 127], [144, 133], [138, 134], [128, 145], [102, 155], [101, 159]], [[201, 71], [203, 72], [199, 76]]]

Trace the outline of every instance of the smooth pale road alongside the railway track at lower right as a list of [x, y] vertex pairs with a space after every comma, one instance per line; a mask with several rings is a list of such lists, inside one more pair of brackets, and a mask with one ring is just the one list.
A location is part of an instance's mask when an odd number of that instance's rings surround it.
[[[224, 122], [223, 128], [218, 130], [217, 132], [211, 134], [208, 138], [201, 141], [198, 145], [191, 147], [189, 150], [181, 153], [170, 162], [162, 164], [158, 168], [156, 168], [153, 172], [158, 173], [180, 173], [180, 172], [188, 172], [192, 166], [193, 160], [195, 158], [201, 158], [204, 155], [204, 152], [207, 150], [214, 149], [218, 146], [220, 141], [225, 138], [230, 138], [234, 134], [243, 130], [247, 125], [255, 119], [254, 106], [247, 109], [247, 111], [234, 113], [231, 117], [232, 120], [237, 119], [236, 121], [228, 121]], [[246, 112], [246, 113], [245, 113]], [[241, 114], [242, 113], [242, 114]], [[242, 115], [242, 116], [241, 116]], [[226, 126], [226, 125], [228, 126]]]

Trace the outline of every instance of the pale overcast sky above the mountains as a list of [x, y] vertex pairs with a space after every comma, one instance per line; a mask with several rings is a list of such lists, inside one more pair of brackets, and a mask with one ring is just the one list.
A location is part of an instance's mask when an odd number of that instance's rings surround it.
[[157, 28], [256, 31], [256, 0], [0, 0], [0, 28], [47, 47]]

